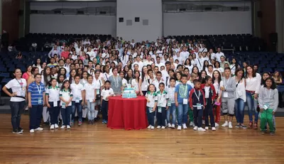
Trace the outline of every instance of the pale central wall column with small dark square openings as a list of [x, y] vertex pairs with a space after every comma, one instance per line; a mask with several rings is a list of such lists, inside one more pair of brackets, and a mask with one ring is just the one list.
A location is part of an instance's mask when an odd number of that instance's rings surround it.
[[[119, 22], [123, 17], [124, 22]], [[140, 22], [134, 18], [140, 17]], [[132, 26], [126, 26], [126, 20], [132, 20]], [[148, 26], [143, 26], [143, 19], [148, 19]], [[126, 40], [155, 41], [163, 33], [162, 0], [117, 0], [116, 35]]]

